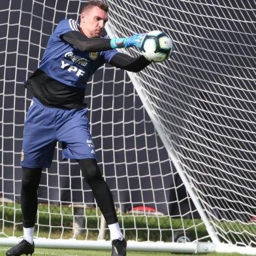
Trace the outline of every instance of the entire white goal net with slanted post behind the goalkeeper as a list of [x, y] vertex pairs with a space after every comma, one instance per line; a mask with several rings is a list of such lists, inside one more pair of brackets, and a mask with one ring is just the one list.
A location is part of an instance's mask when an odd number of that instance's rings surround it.
[[[57, 23], [78, 20], [85, 2], [0, 3], [0, 242], [22, 236], [20, 152], [31, 101], [23, 83]], [[106, 65], [86, 89], [99, 165], [125, 237], [167, 245], [144, 249], [197, 252], [195, 242], [212, 241], [219, 251], [256, 255], [255, 4], [106, 2], [110, 37], [159, 29], [175, 45], [168, 61], [138, 74]], [[39, 202], [37, 238], [73, 247], [109, 240], [88, 185], [75, 161], [62, 160], [60, 145], [43, 172]]]

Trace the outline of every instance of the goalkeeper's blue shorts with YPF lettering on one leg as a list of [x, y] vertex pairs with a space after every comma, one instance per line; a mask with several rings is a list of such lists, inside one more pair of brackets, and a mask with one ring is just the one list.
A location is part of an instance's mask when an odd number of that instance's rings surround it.
[[96, 159], [88, 108], [50, 108], [33, 98], [24, 124], [22, 167], [50, 167], [56, 142], [63, 159]]

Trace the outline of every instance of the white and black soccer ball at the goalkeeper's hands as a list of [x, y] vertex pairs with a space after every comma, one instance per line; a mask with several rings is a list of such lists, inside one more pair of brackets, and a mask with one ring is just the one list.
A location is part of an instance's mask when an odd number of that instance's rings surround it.
[[144, 57], [149, 61], [160, 62], [168, 59], [172, 54], [172, 39], [162, 31], [154, 30], [149, 32], [142, 41], [141, 50]]

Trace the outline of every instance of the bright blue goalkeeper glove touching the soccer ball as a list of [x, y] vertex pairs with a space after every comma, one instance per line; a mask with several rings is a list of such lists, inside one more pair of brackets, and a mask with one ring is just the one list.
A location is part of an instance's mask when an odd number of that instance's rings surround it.
[[110, 46], [114, 48], [129, 48], [132, 46], [137, 46], [141, 50], [142, 42], [146, 34], [135, 34], [132, 37], [124, 37], [120, 39], [111, 39]]

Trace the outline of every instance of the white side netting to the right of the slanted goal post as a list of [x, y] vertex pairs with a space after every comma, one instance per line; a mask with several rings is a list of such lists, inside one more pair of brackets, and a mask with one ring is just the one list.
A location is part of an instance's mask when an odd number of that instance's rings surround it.
[[255, 3], [108, 3], [118, 37], [174, 39], [171, 59], [136, 79], [221, 240], [255, 246]]

